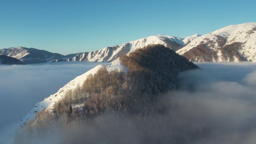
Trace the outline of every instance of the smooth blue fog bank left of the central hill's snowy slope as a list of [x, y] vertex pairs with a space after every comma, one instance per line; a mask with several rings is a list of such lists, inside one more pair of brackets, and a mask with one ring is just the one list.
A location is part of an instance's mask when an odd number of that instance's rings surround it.
[[17, 123], [36, 102], [99, 64], [102, 62], [0, 65], [0, 132]]

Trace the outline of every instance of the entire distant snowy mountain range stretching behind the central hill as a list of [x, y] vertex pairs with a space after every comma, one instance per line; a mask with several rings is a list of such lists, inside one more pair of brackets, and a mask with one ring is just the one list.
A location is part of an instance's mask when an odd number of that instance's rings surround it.
[[106, 47], [92, 52], [61, 55], [46, 50], [16, 47], [0, 49], [0, 55], [17, 58], [26, 64], [89, 61], [111, 62], [149, 44], [161, 44], [185, 56], [190, 61], [253, 61], [256, 62], [256, 23], [230, 25], [203, 36], [195, 34], [186, 38], [156, 35], [131, 42]]

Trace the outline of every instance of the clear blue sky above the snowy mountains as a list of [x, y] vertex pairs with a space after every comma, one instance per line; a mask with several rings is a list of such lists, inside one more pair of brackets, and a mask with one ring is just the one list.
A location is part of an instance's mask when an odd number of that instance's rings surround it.
[[256, 22], [256, 0], [1, 0], [0, 49], [68, 54], [244, 22]]

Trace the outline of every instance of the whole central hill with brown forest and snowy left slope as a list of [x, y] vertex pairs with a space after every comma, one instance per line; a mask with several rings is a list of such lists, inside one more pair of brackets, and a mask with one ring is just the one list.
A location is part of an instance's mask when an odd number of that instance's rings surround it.
[[64, 123], [69, 125], [73, 120], [89, 119], [104, 111], [145, 114], [158, 94], [179, 88], [178, 73], [195, 68], [198, 67], [173, 50], [149, 45], [71, 80], [34, 105], [19, 126], [25, 132], [37, 131], [50, 128], [50, 123], [63, 118], [67, 118]]

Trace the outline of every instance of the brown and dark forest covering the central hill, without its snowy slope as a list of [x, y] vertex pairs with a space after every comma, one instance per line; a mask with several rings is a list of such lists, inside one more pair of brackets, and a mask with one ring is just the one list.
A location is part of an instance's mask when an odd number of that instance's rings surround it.
[[[165, 108], [155, 107], [161, 94], [179, 88], [179, 72], [198, 68], [163, 45], [148, 45], [121, 56], [120, 61], [127, 67], [126, 72], [100, 68], [83, 85], [67, 92], [51, 111], [37, 112], [16, 140], [31, 143], [29, 138], [35, 135], [43, 138], [41, 134], [53, 131], [56, 126], [65, 132], [80, 122], [92, 126], [94, 119], [106, 113], [111, 116], [118, 113], [114, 116], [118, 119], [120, 116], [141, 119], [152, 113], [165, 113]], [[73, 139], [68, 141], [76, 143]]]

